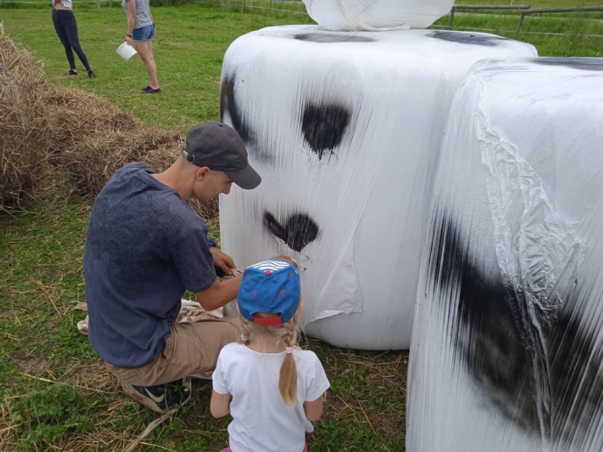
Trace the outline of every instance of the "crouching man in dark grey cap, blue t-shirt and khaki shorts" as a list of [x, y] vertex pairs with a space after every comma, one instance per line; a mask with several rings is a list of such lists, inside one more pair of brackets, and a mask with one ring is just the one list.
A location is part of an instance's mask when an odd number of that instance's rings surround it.
[[176, 323], [185, 290], [210, 311], [234, 300], [241, 282], [217, 279], [214, 265], [231, 274], [234, 262], [187, 201], [260, 181], [234, 129], [205, 122], [163, 173], [129, 163], [94, 202], [84, 251], [88, 338], [125, 393], [152, 410], [185, 402], [190, 391], [175, 382], [212, 371], [240, 334], [231, 318]]

